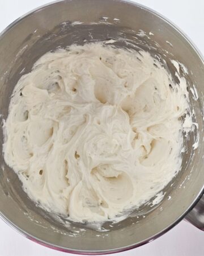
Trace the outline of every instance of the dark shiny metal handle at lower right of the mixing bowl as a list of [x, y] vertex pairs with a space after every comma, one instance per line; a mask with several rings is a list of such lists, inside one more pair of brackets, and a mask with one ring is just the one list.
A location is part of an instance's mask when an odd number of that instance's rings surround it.
[[196, 206], [186, 215], [185, 220], [204, 231], [204, 194]]

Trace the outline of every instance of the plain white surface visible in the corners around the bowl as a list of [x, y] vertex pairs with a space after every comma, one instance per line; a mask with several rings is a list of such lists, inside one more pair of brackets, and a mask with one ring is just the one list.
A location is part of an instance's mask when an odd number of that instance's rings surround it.
[[[47, 0], [0, 0], [0, 31], [19, 16], [48, 2]], [[137, 2], [172, 20], [193, 40], [204, 55], [203, 0], [137, 0]], [[37, 255], [66, 256], [71, 254], [54, 251], [29, 241], [0, 220], [0, 256]], [[114, 255], [204, 256], [204, 232], [194, 228], [186, 221], [181, 221], [175, 228], [157, 240], [137, 249]]]

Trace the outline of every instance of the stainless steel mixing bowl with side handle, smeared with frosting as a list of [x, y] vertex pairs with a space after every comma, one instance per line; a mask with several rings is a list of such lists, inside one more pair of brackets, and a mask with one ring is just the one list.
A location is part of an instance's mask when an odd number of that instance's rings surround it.
[[[188, 81], [190, 104], [194, 108], [198, 129], [195, 128], [189, 139], [185, 139], [188, 150], [183, 154], [181, 171], [164, 189], [166, 193], [162, 203], [157, 207], [143, 205], [124, 221], [105, 223], [104, 232], [86, 224], [70, 223], [65, 227], [61, 216], [56, 218], [36, 207], [1, 154], [1, 217], [29, 239], [57, 250], [103, 254], [143, 245], [182, 220], [203, 193], [203, 60], [177, 27], [141, 5], [120, 0], [60, 1], [40, 7], [8, 26], [0, 35], [2, 120], [7, 117], [16, 82], [24, 73], [31, 71], [33, 63], [41, 55], [59, 46], [107, 39], [116, 39], [114, 45], [118, 47], [146, 49], [152, 56], [156, 55], [173, 76], [175, 67], [170, 59], [183, 63], [188, 68], [188, 74], [183, 72], [182, 75]], [[177, 78], [174, 76], [174, 79]], [[193, 85], [199, 96], [196, 101], [190, 90]], [[194, 150], [193, 144], [198, 135], [199, 146]], [[2, 131], [0, 136], [2, 150]], [[203, 228], [202, 201], [199, 204], [200, 207], [197, 205], [188, 215], [188, 220]]]

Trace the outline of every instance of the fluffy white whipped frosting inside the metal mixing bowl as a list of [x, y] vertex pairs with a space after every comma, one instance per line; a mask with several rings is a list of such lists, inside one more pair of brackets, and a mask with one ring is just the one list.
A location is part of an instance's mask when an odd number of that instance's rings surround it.
[[188, 107], [185, 79], [175, 84], [147, 52], [58, 49], [15, 86], [5, 160], [45, 209], [106, 221], [150, 200], [180, 170]]

